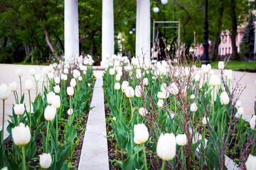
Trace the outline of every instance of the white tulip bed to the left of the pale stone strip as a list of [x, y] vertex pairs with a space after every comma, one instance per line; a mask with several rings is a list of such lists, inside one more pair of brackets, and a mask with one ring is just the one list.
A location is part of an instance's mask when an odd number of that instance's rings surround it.
[[[18, 98], [15, 82], [9, 87], [0, 86], [3, 101], [8, 98], [9, 91], [13, 91], [16, 98], [7, 128], [11, 138], [4, 144], [1, 137], [0, 168], [78, 168], [87, 113], [90, 111], [91, 86], [95, 83], [92, 63], [90, 56], [80, 56], [44, 67], [40, 92], [40, 75], [31, 69], [31, 76], [36, 81], [36, 98], [34, 102], [29, 101], [27, 108], [23, 104], [27, 92]], [[16, 72], [21, 79], [22, 70]], [[29, 98], [32, 86], [31, 80], [26, 81]]]

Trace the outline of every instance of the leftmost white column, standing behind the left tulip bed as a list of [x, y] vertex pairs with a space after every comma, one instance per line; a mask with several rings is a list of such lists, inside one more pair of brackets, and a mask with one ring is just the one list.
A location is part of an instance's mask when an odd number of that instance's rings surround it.
[[79, 55], [78, 0], [65, 0], [65, 59]]

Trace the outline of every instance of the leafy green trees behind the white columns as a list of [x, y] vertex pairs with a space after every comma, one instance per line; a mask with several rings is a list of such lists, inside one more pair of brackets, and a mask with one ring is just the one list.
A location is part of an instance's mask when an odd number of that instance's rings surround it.
[[[230, 8], [231, 4], [235, 8]], [[135, 55], [137, 1], [114, 0], [114, 52], [120, 52], [117, 35], [121, 35], [123, 53]], [[153, 8], [159, 7], [154, 13]], [[231, 16], [235, 9], [235, 15]], [[92, 55], [97, 64], [101, 60], [102, 0], [78, 1], [80, 52]], [[208, 2], [209, 39], [216, 42], [222, 30], [232, 31], [248, 16], [247, 0], [215, 0]], [[234, 11], [233, 11], [234, 14]], [[236, 18], [236, 24], [232, 17]], [[190, 47], [194, 41], [203, 42], [204, 1], [151, 1], [151, 30], [153, 20], [181, 20], [181, 42]], [[175, 41], [178, 30], [160, 28], [166, 43]], [[167, 25], [166, 25], [167, 26]], [[169, 26], [169, 25], [168, 25]], [[171, 25], [170, 25], [171, 26]], [[131, 34], [132, 31], [132, 34]], [[152, 33], [152, 31], [151, 31]], [[0, 0], [0, 62], [47, 62], [64, 52], [63, 0]], [[151, 40], [152, 45], [152, 40]], [[215, 46], [217, 46], [215, 45]], [[214, 55], [214, 54], [213, 54]]]

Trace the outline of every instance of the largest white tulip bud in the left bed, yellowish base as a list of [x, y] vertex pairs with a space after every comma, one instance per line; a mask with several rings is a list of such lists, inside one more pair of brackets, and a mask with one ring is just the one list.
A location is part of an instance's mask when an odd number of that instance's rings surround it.
[[31, 140], [31, 132], [28, 126], [25, 126], [23, 123], [20, 123], [18, 126], [12, 128], [11, 135], [15, 145], [17, 146], [26, 145]]

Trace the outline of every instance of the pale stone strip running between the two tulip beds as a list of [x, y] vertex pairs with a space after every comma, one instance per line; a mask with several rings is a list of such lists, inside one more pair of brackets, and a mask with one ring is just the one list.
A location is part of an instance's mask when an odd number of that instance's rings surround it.
[[90, 105], [92, 110], [89, 112], [87, 120], [78, 170], [109, 169], [102, 85], [102, 77], [97, 78], [92, 94], [92, 103]]

